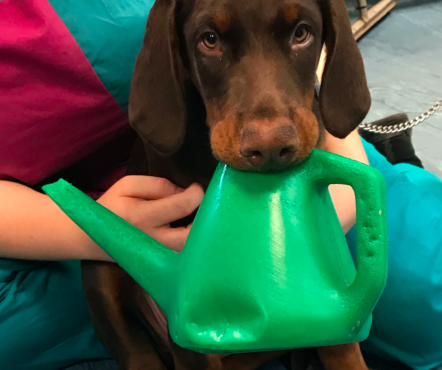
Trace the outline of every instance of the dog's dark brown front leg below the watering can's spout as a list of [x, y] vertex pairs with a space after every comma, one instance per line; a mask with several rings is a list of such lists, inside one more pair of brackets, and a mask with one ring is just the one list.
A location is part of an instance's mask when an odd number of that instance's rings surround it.
[[130, 312], [137, 283], [116, 263], [100, 261], [82, 261], [82, 279], [97, 336], [118, 368], [166, 370], [147, 328]]

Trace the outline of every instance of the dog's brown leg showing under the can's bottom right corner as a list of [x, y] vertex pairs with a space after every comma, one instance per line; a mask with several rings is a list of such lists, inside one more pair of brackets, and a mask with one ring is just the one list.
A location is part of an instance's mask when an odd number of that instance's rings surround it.
[[359, 343], [318, 347], [325, 370], [368, 370]]

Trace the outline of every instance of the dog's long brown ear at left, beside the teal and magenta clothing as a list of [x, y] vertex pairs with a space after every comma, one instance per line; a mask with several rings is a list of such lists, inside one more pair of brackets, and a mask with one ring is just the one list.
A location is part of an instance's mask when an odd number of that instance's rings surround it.
[[156, 0], [152, 7], [129, 97], [131, 126], [163, 154], [177, 151], [186, 131], [187, 77], [179, 53], [177, 1]]

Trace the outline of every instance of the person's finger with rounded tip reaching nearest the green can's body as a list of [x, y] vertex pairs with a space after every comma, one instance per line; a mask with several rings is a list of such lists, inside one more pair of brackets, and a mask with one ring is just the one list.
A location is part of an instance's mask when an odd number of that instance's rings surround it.
[[199, 207], [203, 197], [201, 186], [192, 184], [179, 194], [150, 202], [148, 206], [151, 207], [151, 214], [155, 215], [155, 226], [167, 225], [190, 215]]

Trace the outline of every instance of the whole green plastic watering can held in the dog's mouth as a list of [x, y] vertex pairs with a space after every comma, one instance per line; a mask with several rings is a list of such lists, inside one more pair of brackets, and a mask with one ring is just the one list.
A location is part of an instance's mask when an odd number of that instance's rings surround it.
[[[356, 195], [357, 270], [333, 183]], [[249, 352], [368, 335], [387, 274], [385, 182], [372, 167], [321, 150], [272, 173], [219, 164], [180, 253], [64, 180], [44, 190], [152, 296], [184, 348]]]

